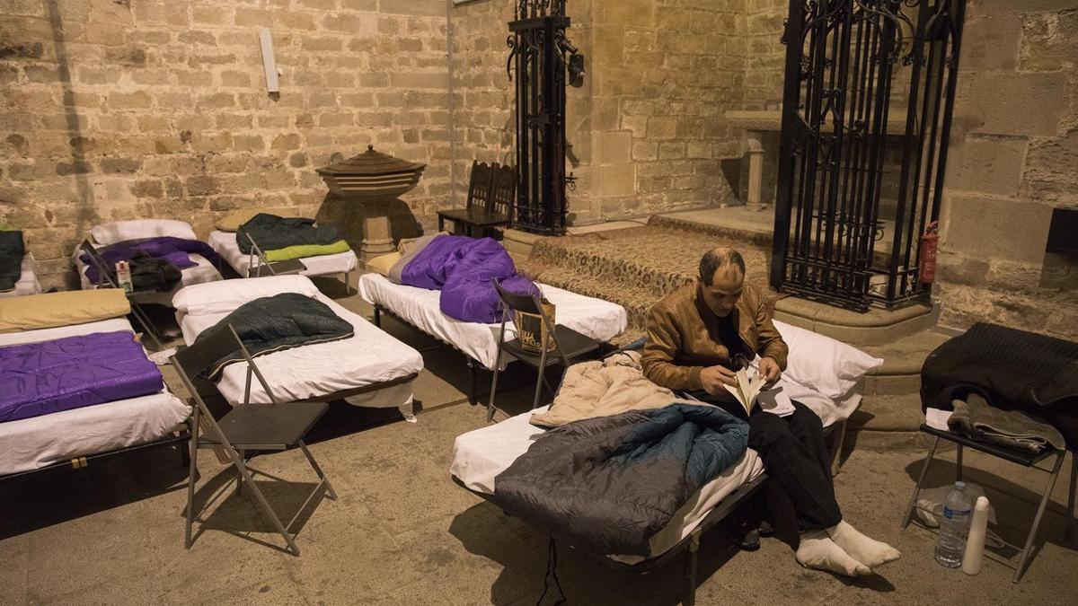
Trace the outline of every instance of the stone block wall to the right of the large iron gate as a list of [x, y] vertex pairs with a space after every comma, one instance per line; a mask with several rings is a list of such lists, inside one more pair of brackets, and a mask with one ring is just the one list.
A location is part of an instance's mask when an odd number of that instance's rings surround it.
[[1078, 3], [970, 0], [948, 162], [941, 322], [1078, 338], [1078, 260], [1045, 252], [1078, 205]]

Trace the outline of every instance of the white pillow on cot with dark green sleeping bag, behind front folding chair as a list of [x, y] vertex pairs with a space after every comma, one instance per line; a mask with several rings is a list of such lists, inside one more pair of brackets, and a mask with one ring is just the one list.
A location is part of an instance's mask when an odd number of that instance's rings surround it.
[[318, 288], [299, 275], [218, 280], [181, 288], [172, 295], [172, 306], [191, 316], [227, 314], [249, 301], [282, 292], [315, 297]]

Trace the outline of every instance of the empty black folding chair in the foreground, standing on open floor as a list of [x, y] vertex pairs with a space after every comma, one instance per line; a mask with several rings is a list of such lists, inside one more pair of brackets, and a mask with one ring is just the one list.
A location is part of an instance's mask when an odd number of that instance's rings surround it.
[[[204, 396], [217, 396], [219, 392], [209, 381], [201, 378], [201, 376], [215, 362], [237, 350], [241, 352], [244, 358], [247, 360], [247, 390], [245, 401], [241, 404], [233, 407], [229, 413], [218, 419], [215, 418], [206, 405]], [[273, 522], [274, 527], [280, 536], [285, 538], [285, 542], [288, 543], [288, 550], [291, 550], [293, 555], [299, 555], [300, 548], [295, 546], [295, 535], [289, 534], [289, 528], [292, 527], [292, 524], [295, 523], [300, 514], [307, 509], [312, 499], [321, 495], [323, 490], [331, 499], [336, 499], [333, 486], [330, 485], [330, 481], [322, 473], [321, 468], [318, 467], [318, 462], [315, 460], [315, 457], [303, 442], [304, 436], [307, 435], [307, 431], [326, 413], [329, 403], [277, 401], [265, 377], [262, 376], [258, 367], [254, 366], [254, 360], [251, 359], [250, 353], [239, 340], [232, 325], [227, 325], [227, 330], [217, 330], [213, 334], [197, 341], [191, 347], [177, 353], [172, 356], [171, 361], [172, 367], [176, 368], [177, 373], [194, 400], [194, 405], [192, 407], [194, 412], [191, 424], [193, 429], [191, 436], [191, 469], [188, 479], [185, 547], [190, 549], [193, 543], [191, 527], [194, 524], [195, 518], [194, 496], [198, 449], [212, 447], [223, 449], [236, 466], [236, 492], [240, 493], [245, 485], [251, 491], [262, 512]], [[258, 377], [259, 383], [262, 384], [262, 388], [270, 396], [272, 403], [249, 403], [252, 373]], [[208, 436], [201, 436], [202, 432], [198, 430], [201, 427], [199, 422], [205, 424]], [[252, 480], [251, 473], [255, 470], [248, 468], [245, 455], [246, 451], [286, 451], [296, 446], [307, 457], [310, 467], [314, 468], [315, 473], [318, 476], [319, 482], [310, 495], [307, 496], [307, 499], [303, 501], [295, 515], [292, 517], [292, 520], [288, 524], [282, 524], [280, 518], [270, 507], [270, 502], [266, 501], [262, 491], [259, 490]], [[276, 478], [266, 473], [262, 474], [276, 480]]]

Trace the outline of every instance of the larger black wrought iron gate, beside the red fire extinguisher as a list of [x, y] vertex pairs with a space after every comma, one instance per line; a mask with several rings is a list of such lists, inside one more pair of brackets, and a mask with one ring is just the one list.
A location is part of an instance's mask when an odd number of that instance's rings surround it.
[[927, 298], [964, 13], [790, 0], [772, 286], [858, 311]]

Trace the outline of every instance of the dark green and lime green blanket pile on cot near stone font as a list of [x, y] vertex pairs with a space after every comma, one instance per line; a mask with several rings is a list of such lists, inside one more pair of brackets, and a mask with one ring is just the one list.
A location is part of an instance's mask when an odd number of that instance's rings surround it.
[[328, 225], [316, 226], [314, 219], [259, 212], [236, 230], [236, 244], [244, 254], [251, 253], [248, 234], [270, 262], [351, 250], [340, 232]]

